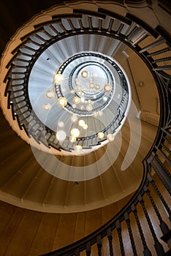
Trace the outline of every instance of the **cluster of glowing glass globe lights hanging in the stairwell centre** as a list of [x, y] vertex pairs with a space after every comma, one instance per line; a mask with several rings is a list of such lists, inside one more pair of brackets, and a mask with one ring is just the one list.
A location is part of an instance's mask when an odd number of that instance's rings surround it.
[[[81, 72], [81, 76], [84, 79], [87, 79], [88, 75], [89, 74], [86, 70], [83, 70], [83, 72]], [[54, 82], [55, 82], [56, 85], [60, 85], [63, 80], [64, 80], [64, 76], [62, 74], [57, 73], [55, 75]], [[96, 98], [96, 92], [99, 91], [99, 90], [100, 90], [100, 86], [98, 84], [96, 84], [94, 82], [94, 80], [90, 79], [89, 83], [88, 83], [88, 92], [90, 92], [92, 94], [94, 99]], [[110, 84], [105, 84], [104, 87], [103, 87], [103, 90], [106, 93], [110, 93], [110, 91], [112, 90], [112, 86]], [[94, 102], [91, 99], [86, 100], [83, 97], [84, 92], [86, 92], [86, 89], [82, 88], [82, 86], [80, 85], [80, 80], [76, 79], [76, 86], [75, 86], [74, 89], [72, 89], [70, 91], [70, 93], [74, 95], [74, 97], [72, 99], [72, 108], [77, 108], [77, 105], [80, 104], [80, 109], [81, 110], [86, 109], [88, 112], [91, 112], [94, 109], [94, 107], [93, 107]], [[47, 99], [53, 99], [55, 96], [56, 95], [55, 95], [55, 92], [53, 90], [46, 91]], [[103, 100], [106, 101], [107, 97], [104, 96]], [[68, 103], [66, 97], [59, 97], [57, 101], [58, 101], [58, 105], [61, 106], [62, 108], [66, 107], [66, 105]], [[44, 108], [45, 111], [49, 111], [51, 109], [50, 103], [45, 103], [43, 105], [43, 108]], [[94, 111], [93, 115], [94, 116], [102, 116], [103, 111], [102, 110]], [[80, 129], [85, 129], [85, 130], [88, 129], [88, 124], [86, 124], [86, 122], [83, 120], [83, 118], [79, 119], [79, 121], [78, 121], [77, 115], [75, 115], [75, 114], [73, 114], [71, 116], [70, 121], [72, 123], [77, 122], [78, 127], [80, 127], [79, 129], [72, 128], [70, 130], [69, 140], [70, 140], [71, 143], [75, 143], [77, 141], [77, 138], [80, 135]], [[58, 129], [58, 131], [56, 132], [56, 138], [59, 141], [64, 141], [66, 139], [66, 132], [64, 132], [64, 130], [61, 129], [62, 127], [64, 127], [64, 122], [63, 121], [58, 121], [58, 127], [60, 129]], [[104, 138], [104, 132], [99, 132], [97, 134], [97, 137], [102, 140]], [[107, 135], [107, 140], [108, 141], [114, 140], [114, 135], [113, 134], [108, 134]], [[82, 151], [82, 146], [75, 145], [75, 152], [80, 153], [81, 151]]]

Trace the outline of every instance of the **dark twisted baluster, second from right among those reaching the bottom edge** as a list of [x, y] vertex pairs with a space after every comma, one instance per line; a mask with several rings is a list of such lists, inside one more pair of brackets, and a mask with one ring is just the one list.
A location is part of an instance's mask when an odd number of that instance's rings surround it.
[[132, 211], [134, 213], [134, 217], [135, 217], [135, 220], [137, 222], [137, 227], [138, 227], [138, 230], [139, 230], [139, 233], [140, 233], [140, 238], [141, 238], [141, 241], [142, 241], [142, 246], [144, 248], [143, 254], [144, 254], [144, 256], [152, 256], [151, 251], [148, 249], [147, 243], [145, 241], [145, 236], [144, 236], [144, 233], [142, 231], [140, 220], [139, 220], [139, 218], [137, 216], [137, 209], [134, 207], [134, 205], [132, 205]]

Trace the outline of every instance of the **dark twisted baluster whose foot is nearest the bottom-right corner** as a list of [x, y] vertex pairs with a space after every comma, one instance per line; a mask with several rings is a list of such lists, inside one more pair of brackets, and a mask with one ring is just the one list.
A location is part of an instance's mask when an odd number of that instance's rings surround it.
[[143, 210], [143, 212], [144, 212], [144, 214], [145, 214], [145, 218], [146, 218], [146, 220], [147, 220], [147, 222], [148, 222], [148, 226], [150, 227], [151, 234], [152, 234], [152, 236], [153, 236], [154, 247], [155, 247], [155, 249], [156, 249], [156, 254], [157, 254], [158, 256], [164, 255], [163, 246], [159, 243], [159, 240], [158, 240], [157, 237], [156, 237], [156, 233], [155, 233], [155, 231], [154, 231], [154, 229], [153, 229], [153, 225], [152, 225], [152, 223], [151, 223], [151, 219], [150, 219], [150, 217], [148, 216], [148, 211], [147, 211], [147, 209], [145, 208], [144, 200], [142, 200], [141, 195], [138, 196], [138, 200], [139, 200], [139, 202], [140, 202], [140, 204], [141, 204], [141, 206], [142, 206], [142, 210]]

